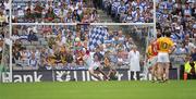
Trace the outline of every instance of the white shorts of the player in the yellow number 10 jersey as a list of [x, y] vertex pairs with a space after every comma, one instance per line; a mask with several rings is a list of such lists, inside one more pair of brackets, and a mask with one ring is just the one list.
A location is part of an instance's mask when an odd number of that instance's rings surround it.
[[169, 53], [167, 53], [167, 52], [159, 52], [158, 53], [158, 60], [157, 60], [157, 62], [163, 62], [163, 63], [166, 63], [166, 62], [170, 62], [170, 59], [169, 59]]

